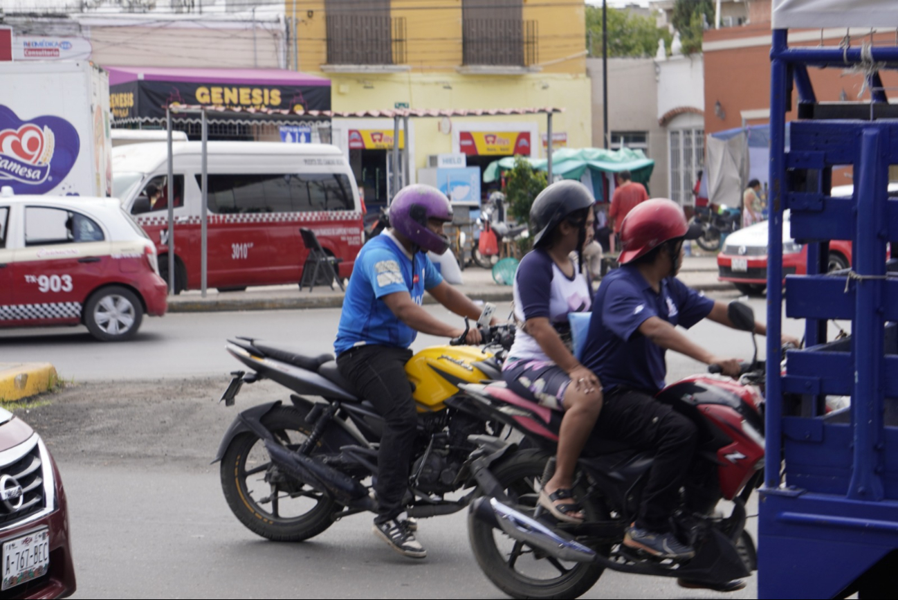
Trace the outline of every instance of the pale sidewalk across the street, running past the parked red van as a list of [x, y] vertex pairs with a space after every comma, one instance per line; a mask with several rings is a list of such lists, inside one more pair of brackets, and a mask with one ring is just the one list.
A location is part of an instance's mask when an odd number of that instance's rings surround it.
[[[733, 289], [733, 284], [718, 281], [716, 256], [688, 256], [683, 260], [680, 279], [689, 287], [700, 291]], [[500, 286], [493, 281], [488, 269], [469, 267], [462, 271], [462, 285], [456, 286], [473, 300], [484, 302], [510, 302], [511, 286]], [[424, 296], [425, 304], [434, 299]], [[206, 313], [220, 311], [264, 311], [286, 308], [339, 308], [343, 305], [343, 292], [327, 286], [316, 286], [310, 293], [308, 287], [297, 286], [249, 287], [244, 292], [219, 292], [207, 290], [204, 298], [198, 290], [170, 296], [170, 313]]]

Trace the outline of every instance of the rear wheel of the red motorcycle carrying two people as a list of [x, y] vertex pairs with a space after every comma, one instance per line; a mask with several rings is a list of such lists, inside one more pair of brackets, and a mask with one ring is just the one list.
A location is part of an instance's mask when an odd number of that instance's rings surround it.
[[[542, 471], [549, 456], [538, 450], [512, 455], [492, 472], [515, 508], [533, 516], [540, 490]], [[577, 490], [580, 497], [585, 490]], [[587, 519], [608, 519], [608, 511], [594, 501], [584, 503]], [[515, 598], [576, 598], [585, 594], [602, 576], [603, 567], [582, 562], [565, 562], [534, 552], [516, 543], [476, 516], [468, 517], [468, 537], [474, 558], [483, 574], [508, 596]], [[609, 547], [595, 550], [605, 556]]]

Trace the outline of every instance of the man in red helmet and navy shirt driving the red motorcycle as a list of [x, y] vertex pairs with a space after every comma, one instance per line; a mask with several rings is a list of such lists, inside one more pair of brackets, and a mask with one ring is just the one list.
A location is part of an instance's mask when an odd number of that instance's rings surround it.
[[[693, 463], [697, 433], [690, 419], [654, 398], [665, 386], [665, 351], [739, 375], [737, 359], [717, 357], [675, 329], [688, 329], [706, 317], [735, 329], [726, 303], [701, 296], [675, 278], [683, 240], [699, 234], [672, 200], [651, 199], [634, 207], [621, 226], [621, 269], [604, 278], [595, 295], [583, 350], [584, 365], [605, 390], [598, 433], [655, 454], [637, 520], [623, 543], [663, 559], [686, 560], [695, 554], [671, 532], [670, 517]], [[763, 335], [767, 330], [755, 322], [754, 331]], [[692, 508], [708, 512], [713, 506]], [[690, 581], [681, 585], [708, 587]], [[728, 582], [715, 588], [741, 587], [743, 582]]]

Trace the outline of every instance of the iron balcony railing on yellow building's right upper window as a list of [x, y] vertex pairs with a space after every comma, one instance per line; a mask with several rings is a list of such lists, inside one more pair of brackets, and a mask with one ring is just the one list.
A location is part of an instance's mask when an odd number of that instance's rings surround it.
[[462, 20], [464, 65], [532, 66], [539, 62], [539, 22]]

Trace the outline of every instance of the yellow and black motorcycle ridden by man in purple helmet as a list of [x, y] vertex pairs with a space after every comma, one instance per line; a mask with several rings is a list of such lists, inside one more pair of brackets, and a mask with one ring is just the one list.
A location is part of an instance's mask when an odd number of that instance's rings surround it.
[[[445, 495], [474, 485], [469, 466], [479, 436], [497, 434], [461, 384], [500, 379], [514, 325], [480, 330], [484, 347], [450, 345], [421, 350], [406, 364], [418, 404], [418, 436], [409, 476], [409, 516], [449, 515], [467, 507]], [[321, 534], [343, 516], [375, 509], [370, 490], [377, 472], [383, 419], [357, 397], [330, 354], [309, 357], [260, 340], [228, 340], [227, 351], [249, 371], [233, 372], [222, 396], [232, 406], [243, 384], [270, 379], [293, 393], [289, 403], [243, 410], [218, 448], [222, 490], [234, 516], [269, 540], [298, 542]], [[472, 437], [472, 438], [470, 438]]]

